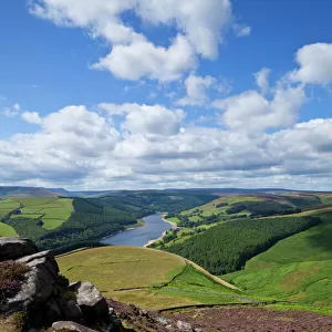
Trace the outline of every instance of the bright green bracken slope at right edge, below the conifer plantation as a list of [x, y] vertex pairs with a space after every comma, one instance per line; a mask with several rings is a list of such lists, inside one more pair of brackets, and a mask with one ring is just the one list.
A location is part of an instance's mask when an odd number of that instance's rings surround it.
[[224, 276], [246, 290], [305, 304], [332, 304], [332, 212], [323, 222], [278, 242], [245, 270]]

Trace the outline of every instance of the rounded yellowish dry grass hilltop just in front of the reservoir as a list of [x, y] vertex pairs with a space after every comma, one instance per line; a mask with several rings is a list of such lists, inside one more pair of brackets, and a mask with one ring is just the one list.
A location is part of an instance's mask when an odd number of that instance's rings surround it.
[[87, 279], [102, 292], [163, 284], [186, 264], [168, 252], [133, 247], [95, 248], [56, 260], [71, 281]]

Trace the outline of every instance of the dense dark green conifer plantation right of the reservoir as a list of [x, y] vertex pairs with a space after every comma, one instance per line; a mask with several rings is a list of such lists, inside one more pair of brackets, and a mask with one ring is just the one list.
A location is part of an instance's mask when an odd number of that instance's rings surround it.
[[217, 225], [184, 242], [164, 248], [195, 261], [214, 274], [226, 274], [279, 240], [321, 222], [318, 217], [238, 219]]

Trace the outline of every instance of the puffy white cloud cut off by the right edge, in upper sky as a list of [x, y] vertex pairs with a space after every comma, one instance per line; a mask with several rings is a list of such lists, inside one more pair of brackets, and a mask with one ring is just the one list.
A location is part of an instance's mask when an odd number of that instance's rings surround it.
[[295, 55], [300, 69], [289, 79], [304, 84], [332, 83], [332, 43], [315, 43], [301, 48]]

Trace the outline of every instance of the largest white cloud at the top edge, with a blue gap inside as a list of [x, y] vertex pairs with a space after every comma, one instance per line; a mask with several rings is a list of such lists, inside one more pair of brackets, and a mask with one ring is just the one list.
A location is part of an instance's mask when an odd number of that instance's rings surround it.
[[[123, 20], [127, 11], [154, 27], [174, 27], [178, 34], [168, 46], [157, 45]], [[104, 39], [112, 50], [92, 68], [126, 80], [177, 80], [195, 69], [196, 56], [216, 59], [224, 32], [235, 22], [230, 0], [32, 0], [30, 12]], [[237, 27], [238, 35], [250, 33], [249, 27]]]

